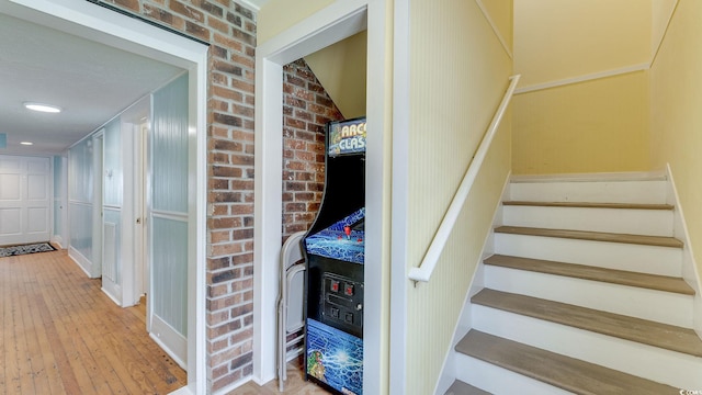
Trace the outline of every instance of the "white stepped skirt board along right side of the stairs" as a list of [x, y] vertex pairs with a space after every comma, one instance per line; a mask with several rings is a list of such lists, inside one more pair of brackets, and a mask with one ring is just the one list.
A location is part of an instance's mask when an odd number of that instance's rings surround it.
[[675, 178], [672, 177], [672, 170], [670, 163], [666, 166], [666, 173], [668, 177], [668, 204], [675, 205], [673, 211], [673, 236], [679, 240], [682, 240], [684, 247], [682, 248], [682, 278], [692, 286], [695, 291], [694, 304], [692, 307], [692, 326], [698, 336], [702, 339], [702, 293], [700, 287], [700, 272], [694, 260], [692, 252], [692, 246], [690, 245], [690, 237], [688, 233], [688, 225], [684, 221], [684, 212], [682, 204], [680, 204], [680, 198], [676, 188]]

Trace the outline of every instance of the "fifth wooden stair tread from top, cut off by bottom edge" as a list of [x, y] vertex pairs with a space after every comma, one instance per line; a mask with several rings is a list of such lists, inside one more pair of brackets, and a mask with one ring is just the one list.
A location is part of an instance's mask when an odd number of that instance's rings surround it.
[[471, 330], [455, 350], [576, 394], [677, 394], [679, 388]]

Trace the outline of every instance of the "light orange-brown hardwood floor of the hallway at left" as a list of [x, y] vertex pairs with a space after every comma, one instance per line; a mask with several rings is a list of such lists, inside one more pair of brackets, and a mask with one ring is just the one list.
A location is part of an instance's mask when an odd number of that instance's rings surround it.
[[0, 395], [168, 394], [185, 372], [66, 250], [0, 258]]

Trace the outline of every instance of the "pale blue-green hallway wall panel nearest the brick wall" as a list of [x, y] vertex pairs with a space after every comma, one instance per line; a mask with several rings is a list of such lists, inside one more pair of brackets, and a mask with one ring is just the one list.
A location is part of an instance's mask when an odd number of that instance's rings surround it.
[[188, 76], [154, 93], [147, 208], [149, 331], [188, 361]]

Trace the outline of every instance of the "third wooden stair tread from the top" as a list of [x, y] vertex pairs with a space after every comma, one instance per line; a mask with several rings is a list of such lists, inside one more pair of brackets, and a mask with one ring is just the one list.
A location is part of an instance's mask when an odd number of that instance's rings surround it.
[[598, 268], [586, 264], [555, 262], [542, 259], [492, 255], [485, 259], [486, 264], [526, 270], [546, 274], [600, 281], [620, 285], [638, 286], [649, 290], [694, 295], [694, 290], [684, 280], [668, 275], [638, 273], [625, 270]]

